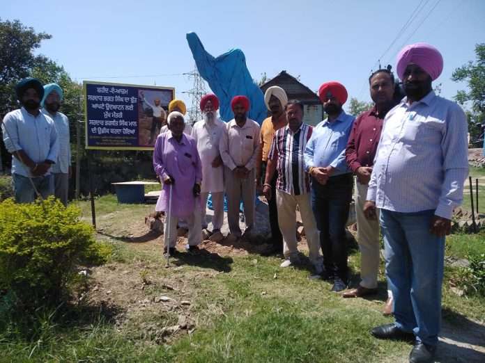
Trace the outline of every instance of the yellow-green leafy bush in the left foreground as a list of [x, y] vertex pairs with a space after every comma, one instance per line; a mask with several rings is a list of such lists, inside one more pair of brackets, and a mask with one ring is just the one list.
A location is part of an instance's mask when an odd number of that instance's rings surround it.
[[50, 197], [33, 204], [0, 203], [0, 295], [20, 307], [53, 305], [69, 296], [78, 266], [102, 264], [107, 250], [93, 228], [79, 220], [77, 207]]

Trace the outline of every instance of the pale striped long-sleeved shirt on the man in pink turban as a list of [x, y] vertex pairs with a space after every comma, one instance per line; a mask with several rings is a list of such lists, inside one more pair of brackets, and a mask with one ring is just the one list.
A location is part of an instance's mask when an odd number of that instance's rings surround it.
[[403, 213], [433, 209], [452, 218], [468, 176], [468, 124], [455, 102], [429, 92], [384, 119], [367, 200]]

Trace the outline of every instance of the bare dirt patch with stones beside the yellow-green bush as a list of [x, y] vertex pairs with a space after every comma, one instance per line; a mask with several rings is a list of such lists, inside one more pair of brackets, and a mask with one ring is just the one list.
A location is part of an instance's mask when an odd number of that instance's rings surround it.
[[91, 289], [84, 299], [116, 307], [116, 328], [127, 336], [163, 344], [196, 327], [193, 289], [187, 284], [194, 276], [187, 274], [165, 277], [157, 264], [107, 264], [90, 271]]

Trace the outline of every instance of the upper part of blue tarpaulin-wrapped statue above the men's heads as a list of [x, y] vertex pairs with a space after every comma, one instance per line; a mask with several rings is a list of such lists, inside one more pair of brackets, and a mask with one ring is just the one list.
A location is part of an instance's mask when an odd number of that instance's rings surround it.
[[248, 117], [261, 124], [268, 117], [263, 92], [254, 83], [246, 66], [246, 58], [240, 49], [231, 49], [217, 58], [208, 54], [196, 33], [187, 34], [187, 42], [194, 56], [199, 74], [219, 97], [220, 116], [225, 122], [234, 118], [231, 99], [245, 95], [251, 102]]

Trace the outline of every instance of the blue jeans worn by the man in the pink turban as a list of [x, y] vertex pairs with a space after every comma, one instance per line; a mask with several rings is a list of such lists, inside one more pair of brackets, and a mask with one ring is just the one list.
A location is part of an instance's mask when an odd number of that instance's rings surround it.
[[434, 211], [380, 210], [387, 283], [396, 325], [417, 341], [436, 346], [441, 324], [445, 237], [429, 232]]

